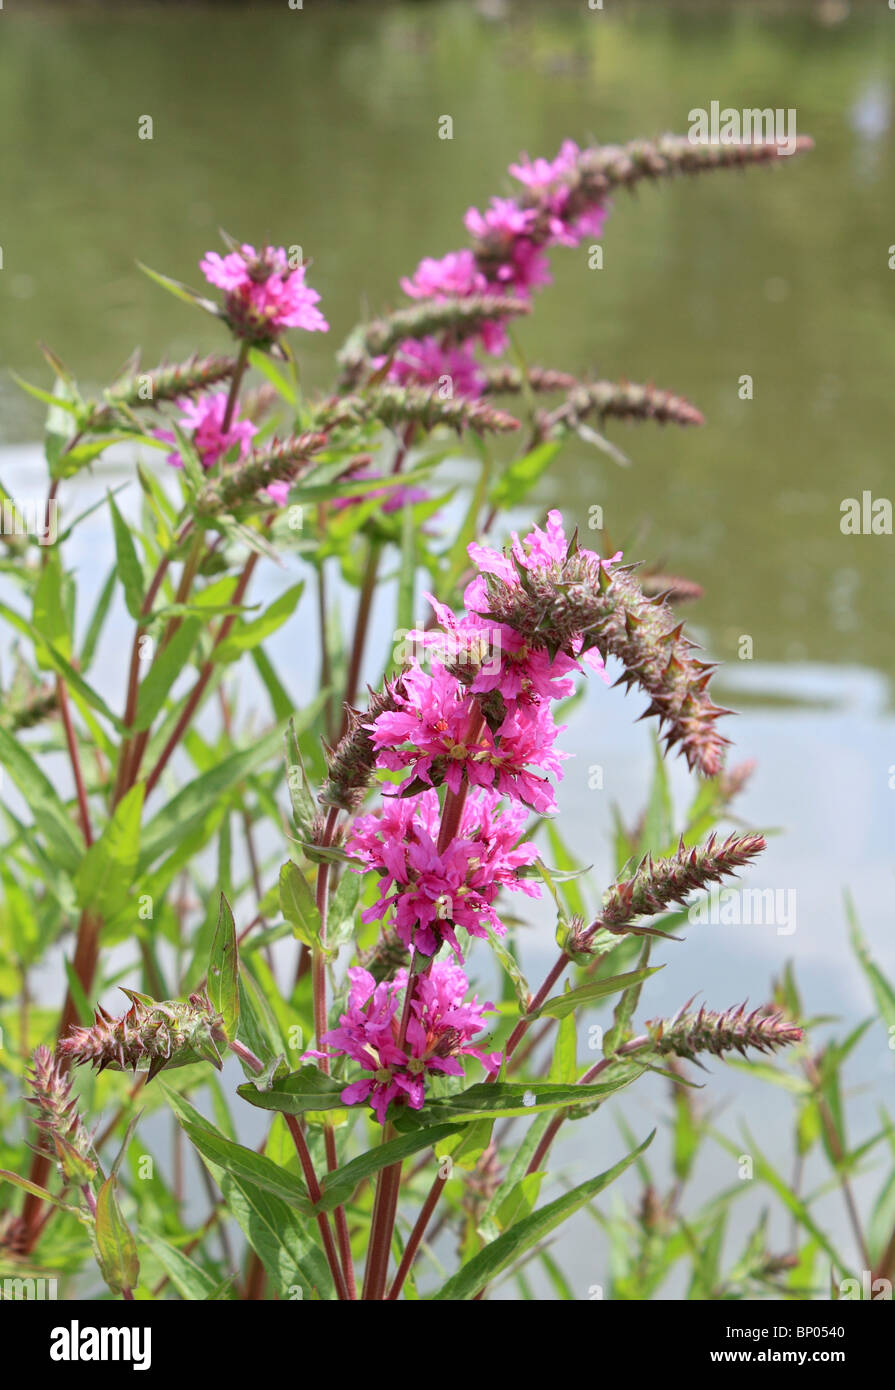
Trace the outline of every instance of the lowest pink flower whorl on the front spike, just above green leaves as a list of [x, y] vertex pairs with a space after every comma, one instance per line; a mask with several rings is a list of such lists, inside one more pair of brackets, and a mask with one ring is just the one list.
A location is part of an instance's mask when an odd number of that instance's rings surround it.
[[486, 1027], [484, 1015], [493, 1012], [493, 1005], [479, 1005], [478, 997], [464, 1004], [468, 980], [459, 966], [435, 962], [428, 974], [414, 977], [403, 1042], [399, 1005], [407, 972], [399, 970], [393, 980], [382, 984], [361, 967], [347, 973], [347, 1008], [339, 1027], [321, 1038], [328, 1054], [306, 1054], [347, 1056], [370, 1073], [345, 1087], [340, 1097], [345, 1105], [368, 1101], [379, 1123], [385, 1125], [393, 1099], [421, 1109], [427, 1074], [463, 1076], [461, 1056], [477, 1058], [489, 1072], [499, 1068], [499, 1054], [485, 1055], [470, 1045], [470, 1038]]

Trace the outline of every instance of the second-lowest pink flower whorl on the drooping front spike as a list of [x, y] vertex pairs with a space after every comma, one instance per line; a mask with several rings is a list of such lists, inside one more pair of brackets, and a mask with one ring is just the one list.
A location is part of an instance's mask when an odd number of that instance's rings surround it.
[[456, 835], [438, 853], [436, 792], [386, 798], [381, 812], [356, 819], [346, 845], [381, 876], [379, 901], [364, 912], [364, 922], [388, 913], [407, 947], [435, 955], [446, 942], [459, 959], [454, 927], [474, 937], [486, 937], [486, 927], [503, 935], [506, 927], [492, 906], [500, 888], [541, 897], [535, 881], [518, 876], [538, 858], [534, 845], [518, 842], [527, 819], [524, 806], [502, 806], [491, 790], [470, 792]]

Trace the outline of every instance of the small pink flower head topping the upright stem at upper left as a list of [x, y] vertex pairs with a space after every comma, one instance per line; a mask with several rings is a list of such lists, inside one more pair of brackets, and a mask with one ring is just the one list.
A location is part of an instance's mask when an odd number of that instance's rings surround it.
[[304, 265], [292, 265], [282, 246], [256, 252], [208, 252], [199, 263], [206, 279], [224, 291], [228, 322], [239, 338], [268, 343], [284, 328], [327, 332], [329, 324], [314, 306], [320, 295], [304, 284]]

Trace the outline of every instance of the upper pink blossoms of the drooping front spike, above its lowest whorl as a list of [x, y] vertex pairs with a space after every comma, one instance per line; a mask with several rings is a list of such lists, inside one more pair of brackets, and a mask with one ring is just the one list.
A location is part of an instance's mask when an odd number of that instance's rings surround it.
[[[443, 944], [460, 956], [457, 926], [473, 937], [486, 937], [489, 927], [503, 934], [493, 905], [500, 888], [539, 895], [520, 876], [536, 851], [520, 841], [529, 808], [556, 810], [549, 777], [561, 776], [568, 755], [555, 746], [561, 728], [550, 701], [571, 695], [573, 673], [581, 671], [574, 656], [552, 657], [486, 617], [485, 575], [518, 584], [518, 574], [498, 550], [470, 545], [468, 553], [479, 573], [467, 585], [466, 614], [459, 619], [427, 595], [441, 631], [407, 635], [436, 653], [431, 671], [411, 660], [395, 691], [396, 708], [367, 726], [377, 764], [407, 773], [403, 795], [385, 795], [379, 812], [357, 817], [346, 847], [381, 876], [378, 901], [364, 920], [388, 916], [407, 947], [429, 956]], [[513, 535], [521, 569], [550, 567], [566, 553], [559, 512], [549, 513], [546, 531], [535, 527], [524, 541]], [[606, 678], [599, 653], [582, 659]], [[442, 783], [461, 802], [446, 840], [435, 791]]]

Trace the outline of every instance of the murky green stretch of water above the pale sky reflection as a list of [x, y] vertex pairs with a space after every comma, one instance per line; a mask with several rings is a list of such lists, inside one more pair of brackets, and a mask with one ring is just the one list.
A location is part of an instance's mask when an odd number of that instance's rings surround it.
[[[555, 256], [523, 329], [532, 359], [653, 378], [709, 427], [616, 428], [637, 467], [571, 450], [548, 500], [603, 505], [620, 539], [653, 520], [652, 546], [710, 580], [700, 621], [717, 655], [749, 632], [763, 660], [891, 673], [895, 542], [842, 538], [838, 520], [842, 498], [891, 492], [894, 44], [882, 3], [11, 3], [0, 366], [40, 373], [43, 339], [101, 384], [135, 343], [146, 361], [221, 346], [135, 260], [195, 284], [224, 227], [313, 257], [332, 334], [302, 356], [324, 386], [350, 325], [396, 304], [421, 256], [463, 245], [463, 211], [507, 189], [518, 152], [685, 132], [713, 99], [795, 107], [810, 157], [621, 196], [602, 271], [585, 247]], [[453, 140], [438, 139], [442, 114]], [[33, 438], [31, 403], [8, 378], [1, 391], [6, 439]]]

